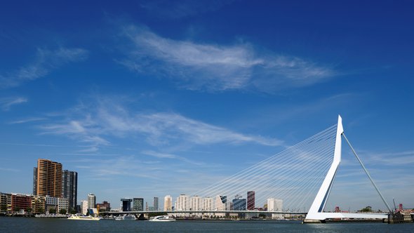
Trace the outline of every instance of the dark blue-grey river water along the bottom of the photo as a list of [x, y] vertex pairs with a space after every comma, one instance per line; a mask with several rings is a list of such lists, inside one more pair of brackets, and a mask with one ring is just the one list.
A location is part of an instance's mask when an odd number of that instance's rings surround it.
[[0, 218], [0, 232], [414, 232], [414, 224], [328, 223], [298, 221], [81, 221], [39, 218]]

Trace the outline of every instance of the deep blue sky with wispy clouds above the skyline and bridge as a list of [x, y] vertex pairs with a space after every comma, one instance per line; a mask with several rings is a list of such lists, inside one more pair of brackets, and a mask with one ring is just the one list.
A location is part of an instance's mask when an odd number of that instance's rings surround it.
[[[340, 114], [388, 203], [414, 208], [413, 7], [4, 2], [0, 192], [31, 193], [41, 158], [79, 173], [78, 201], [93, 193], [113, 208], [122, 197], [162, 206]], [[328, 210], [385, 209], [347, 145], [342, 153]]]

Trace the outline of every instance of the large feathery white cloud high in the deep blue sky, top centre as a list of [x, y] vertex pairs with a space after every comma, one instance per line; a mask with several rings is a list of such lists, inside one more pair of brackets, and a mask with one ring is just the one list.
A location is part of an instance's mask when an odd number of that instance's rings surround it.
[[251, 44], [220, 46], [163, 38], [143, 26], [123, 27], [131, 41], [122, 65], [178, 81], [182, 88], [206, 91], [281, 88], [321, 82], [335, 72], [293, 56], [259, 54]]

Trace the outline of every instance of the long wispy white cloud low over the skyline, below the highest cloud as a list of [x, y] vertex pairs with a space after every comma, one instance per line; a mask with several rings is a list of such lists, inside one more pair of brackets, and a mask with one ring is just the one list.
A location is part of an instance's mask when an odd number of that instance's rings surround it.
[[[92, 107], [95, 106], [95, 107]], [[227, 128], [189, 119], [177, 113], [133, 112], [108, 99], [75, 107], [65, 119], [41, 125], [42, 134], [67, 135], [95, 147], [111, 145], [108, 138], [143, 137], [149, 145], [211, 145], [217, 143], [279, 146], [283, 142], [260, 135], [236, 133]]]

